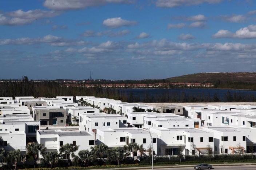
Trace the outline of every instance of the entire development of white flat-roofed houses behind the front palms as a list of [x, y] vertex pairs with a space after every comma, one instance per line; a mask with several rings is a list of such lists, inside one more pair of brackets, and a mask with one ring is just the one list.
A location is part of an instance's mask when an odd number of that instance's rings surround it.
[[[112, 148], [131, 142], [145, 150], [153, 142], [157, 156], [177, 155], [180, 148], [185, 155], [208, 154], [210, 148], [215, 154], [256, 152], [256, 105], [152, 107], [94, 96], [0, 97], [0, 101], [0, 147], [6, 150], [25, 152], [26, 143], [36, 141], [47, 152], [58, 152], [67, 143], [79, 145], [79, 152], [99, 143]], [[82, 106], [81, 101], [91, 106]], [[105, 107], [116, 114], [100, 112]], [[133, 112], [133, 107], [140, 112]], [[161, 113], [148, 112], [153, 109]], [[67, 127], [69, 122], [74, 126]]]

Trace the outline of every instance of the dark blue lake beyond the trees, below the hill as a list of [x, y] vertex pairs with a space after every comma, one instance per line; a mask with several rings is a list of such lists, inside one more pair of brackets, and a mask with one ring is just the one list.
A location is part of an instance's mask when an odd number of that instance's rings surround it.
[[181, 96], [204, 97], [213, 98], [215, 93], [221, 101], [225, 101], [227, 92], [232, 95], [236, 93], [237, 96], [243, 96], [243, 98], [256, 98], [256, 91], [253, 90], [228, 90], [228, 89], [213, 89], [213, 88], [172, 88], [172, 89], [119, 89], [121, 95], [126, 95], [128, 98], [139, 98], [139, 101], [143, 101], [145, 98], [154, 98], [156, 102], [162, 96], [165, 98], [181, 98]]

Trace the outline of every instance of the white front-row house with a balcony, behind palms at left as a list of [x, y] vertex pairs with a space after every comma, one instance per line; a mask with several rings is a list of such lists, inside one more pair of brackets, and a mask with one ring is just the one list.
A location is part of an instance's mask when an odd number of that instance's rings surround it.
[[[95, 144], [95, 136], [85, 131], [62, 131], [55, 130], [37, 130], [36, 140], [38, 144], [46, 147], [46, 152], [59, 152], [60, 146], [65, 144], [73, 144], [79, 146], [75, 155], [80, 150], [91, 150], [91, 146]], [[71, 158], [71, 156], [70, 156]]]

